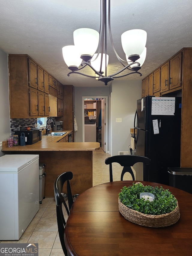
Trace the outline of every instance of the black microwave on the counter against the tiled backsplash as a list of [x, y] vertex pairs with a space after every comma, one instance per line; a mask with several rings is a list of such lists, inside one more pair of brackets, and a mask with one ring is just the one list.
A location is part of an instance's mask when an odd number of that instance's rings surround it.
[[26, 145], [31, 145], [41, 140], [41, 131], [39, 130], [31, 129], [30, 131], [26, 131], [26, 130], [15, 131], [15, 134], [19, 135], [19, 145], [20, 145], [20, 136], [22, 132], [25, 134]]

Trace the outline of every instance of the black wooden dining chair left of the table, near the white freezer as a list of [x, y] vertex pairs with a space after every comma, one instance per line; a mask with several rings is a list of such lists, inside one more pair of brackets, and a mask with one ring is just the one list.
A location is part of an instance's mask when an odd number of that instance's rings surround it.
[[[72, 172], [65, 172], [59, 175], [54, 182], [54, 194], [55, 194], [55, 203], [56, 203], [56, 212], [57, 212], [57, 225], [58, 225], [58, 232], [59, 232], [59, 239], [61, 242], [61, 246], [64, 252], [64, 255], [67, 256], [67, 249], [64, 243], [64, 229], [66, 225], [66, 221], [64, 219], [64, 212], [62, 209], [62, 205], [64, 205], [67, 215], [69, 216], [69, 212], [71, 206], [73, 204], [73, 197], [71, 194], [71, 188], [69, 180], [73, 178]], [[67, 181], [67, 198], [68, 198], [68, 206], [62, 196], [62, 189], [64, 182]]]

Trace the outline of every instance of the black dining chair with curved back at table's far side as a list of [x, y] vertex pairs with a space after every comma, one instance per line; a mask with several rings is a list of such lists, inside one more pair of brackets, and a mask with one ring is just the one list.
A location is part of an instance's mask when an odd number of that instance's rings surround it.
[[139, 162], [142, 162], [143, 164], [150, 164], [151, 160], [148, 157], [140, 155], [114, 155], [105, 159], [105, 164], [109, 164], [110, 182], [113, 181], [112, 163], [119, 163], [123, 166], [121, 180], [123, 180], [123, 176], [126, 172], [130, 173], [133, 180], [135, 180], [131, 167]]

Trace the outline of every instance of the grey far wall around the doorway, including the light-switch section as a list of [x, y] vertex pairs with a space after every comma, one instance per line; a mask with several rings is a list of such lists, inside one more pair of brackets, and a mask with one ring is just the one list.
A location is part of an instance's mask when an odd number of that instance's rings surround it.
[[[118, 155], [119, 151], [129, 151], [130, 128], [134, 127], [137, 100], [141, 98], [141, 80], [115, 80], [110, 87], [75, 87], [75, 117], [78, 131], [75, 142], [82, 142], [82, 97], [108, 96], [108, 145], [106, 152]], [[121, 117], [122, 123], [116, 123]]]

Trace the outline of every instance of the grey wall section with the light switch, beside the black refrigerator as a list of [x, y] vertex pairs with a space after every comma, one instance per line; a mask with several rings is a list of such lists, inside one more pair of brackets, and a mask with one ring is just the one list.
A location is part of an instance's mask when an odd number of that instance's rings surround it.
[[[111, 155], [119, 151], [129, 151], [131, 145], [130, 128], [134, 128], [137, 99], [141, 98], [141, 80], [113, 81], [111, 89]], [[116, 118], [122, 123], [116, 123]]]

